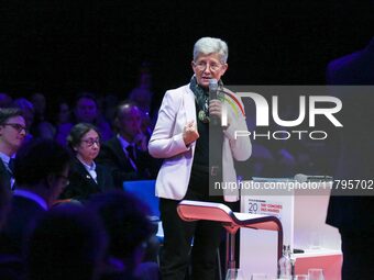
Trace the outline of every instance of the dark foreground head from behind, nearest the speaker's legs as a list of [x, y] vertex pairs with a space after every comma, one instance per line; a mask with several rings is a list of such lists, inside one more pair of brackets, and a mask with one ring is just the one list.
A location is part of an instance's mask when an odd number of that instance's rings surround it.
[[155, 262], [141, 264], [153, 227], [141, 201], [123, 192], [109, 192], [92, 197], [88, 205], [102, 217], [109, 235], [102, 279], [158, 279]]

